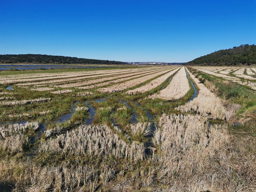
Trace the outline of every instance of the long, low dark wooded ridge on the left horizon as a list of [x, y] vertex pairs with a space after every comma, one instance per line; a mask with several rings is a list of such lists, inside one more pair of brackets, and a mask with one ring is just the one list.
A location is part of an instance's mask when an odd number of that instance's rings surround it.
[[0, 55], [0, 63], [125, 64], [125, 62], [121, 61], [108, 61], [40, 54]]

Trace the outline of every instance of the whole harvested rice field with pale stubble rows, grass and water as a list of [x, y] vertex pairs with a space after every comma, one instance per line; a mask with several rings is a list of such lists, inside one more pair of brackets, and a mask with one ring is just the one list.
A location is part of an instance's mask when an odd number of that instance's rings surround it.
[[256, 69], [0, 71], [2, 191], [256, 191]]

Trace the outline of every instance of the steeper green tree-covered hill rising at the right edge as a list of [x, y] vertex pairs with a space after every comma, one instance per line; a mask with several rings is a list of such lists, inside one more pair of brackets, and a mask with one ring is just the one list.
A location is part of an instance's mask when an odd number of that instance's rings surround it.
[[250, 65], [256, 64], [256, 46], [241, 45], [233, 49], [222, 49], [189, 61], [186, 65]]

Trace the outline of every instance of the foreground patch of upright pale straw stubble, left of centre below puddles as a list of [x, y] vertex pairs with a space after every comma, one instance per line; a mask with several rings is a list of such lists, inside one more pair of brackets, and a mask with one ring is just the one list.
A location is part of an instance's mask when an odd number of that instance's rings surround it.
[[137, 162], [143, 160], [144, 146], [135, 142], [125, 143], [107, 125], [80, 125], [57, 138], [41, 142], [39, 153], [90, 156], [104, 154]]

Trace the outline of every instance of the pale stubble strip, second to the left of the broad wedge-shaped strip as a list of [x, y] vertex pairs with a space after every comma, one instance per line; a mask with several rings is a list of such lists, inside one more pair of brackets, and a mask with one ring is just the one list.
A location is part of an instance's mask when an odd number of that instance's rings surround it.
[[119, 84], [116, 84], [116, 85], [112, 85], [110, 87], [99, 88], [99, 89], [97, 89], [97, 91], [107, 92], [107, 93], [122, 91], [122, 90], [125, 90], [126, 88], [134, 87], [134, 86], [139, 85], [143, 82], [146, 82], [149, 79], [152, 79], [152, 78], [154, 78], [158, 75], [166, 73], [168, 70], [170, 71], [170, 68], [168, 68], [167, 70], [162, 70], [162, 71], [157, 72], [157, 73], [153, 72], [153, 74], [149, 74], [149, 75], [137, 78], [137, 79], [132, 79], [132, 80], [129, 80], [129, 81], [125, 81], [125, 82], [122, 82], [122, 83], [119, 83]]

